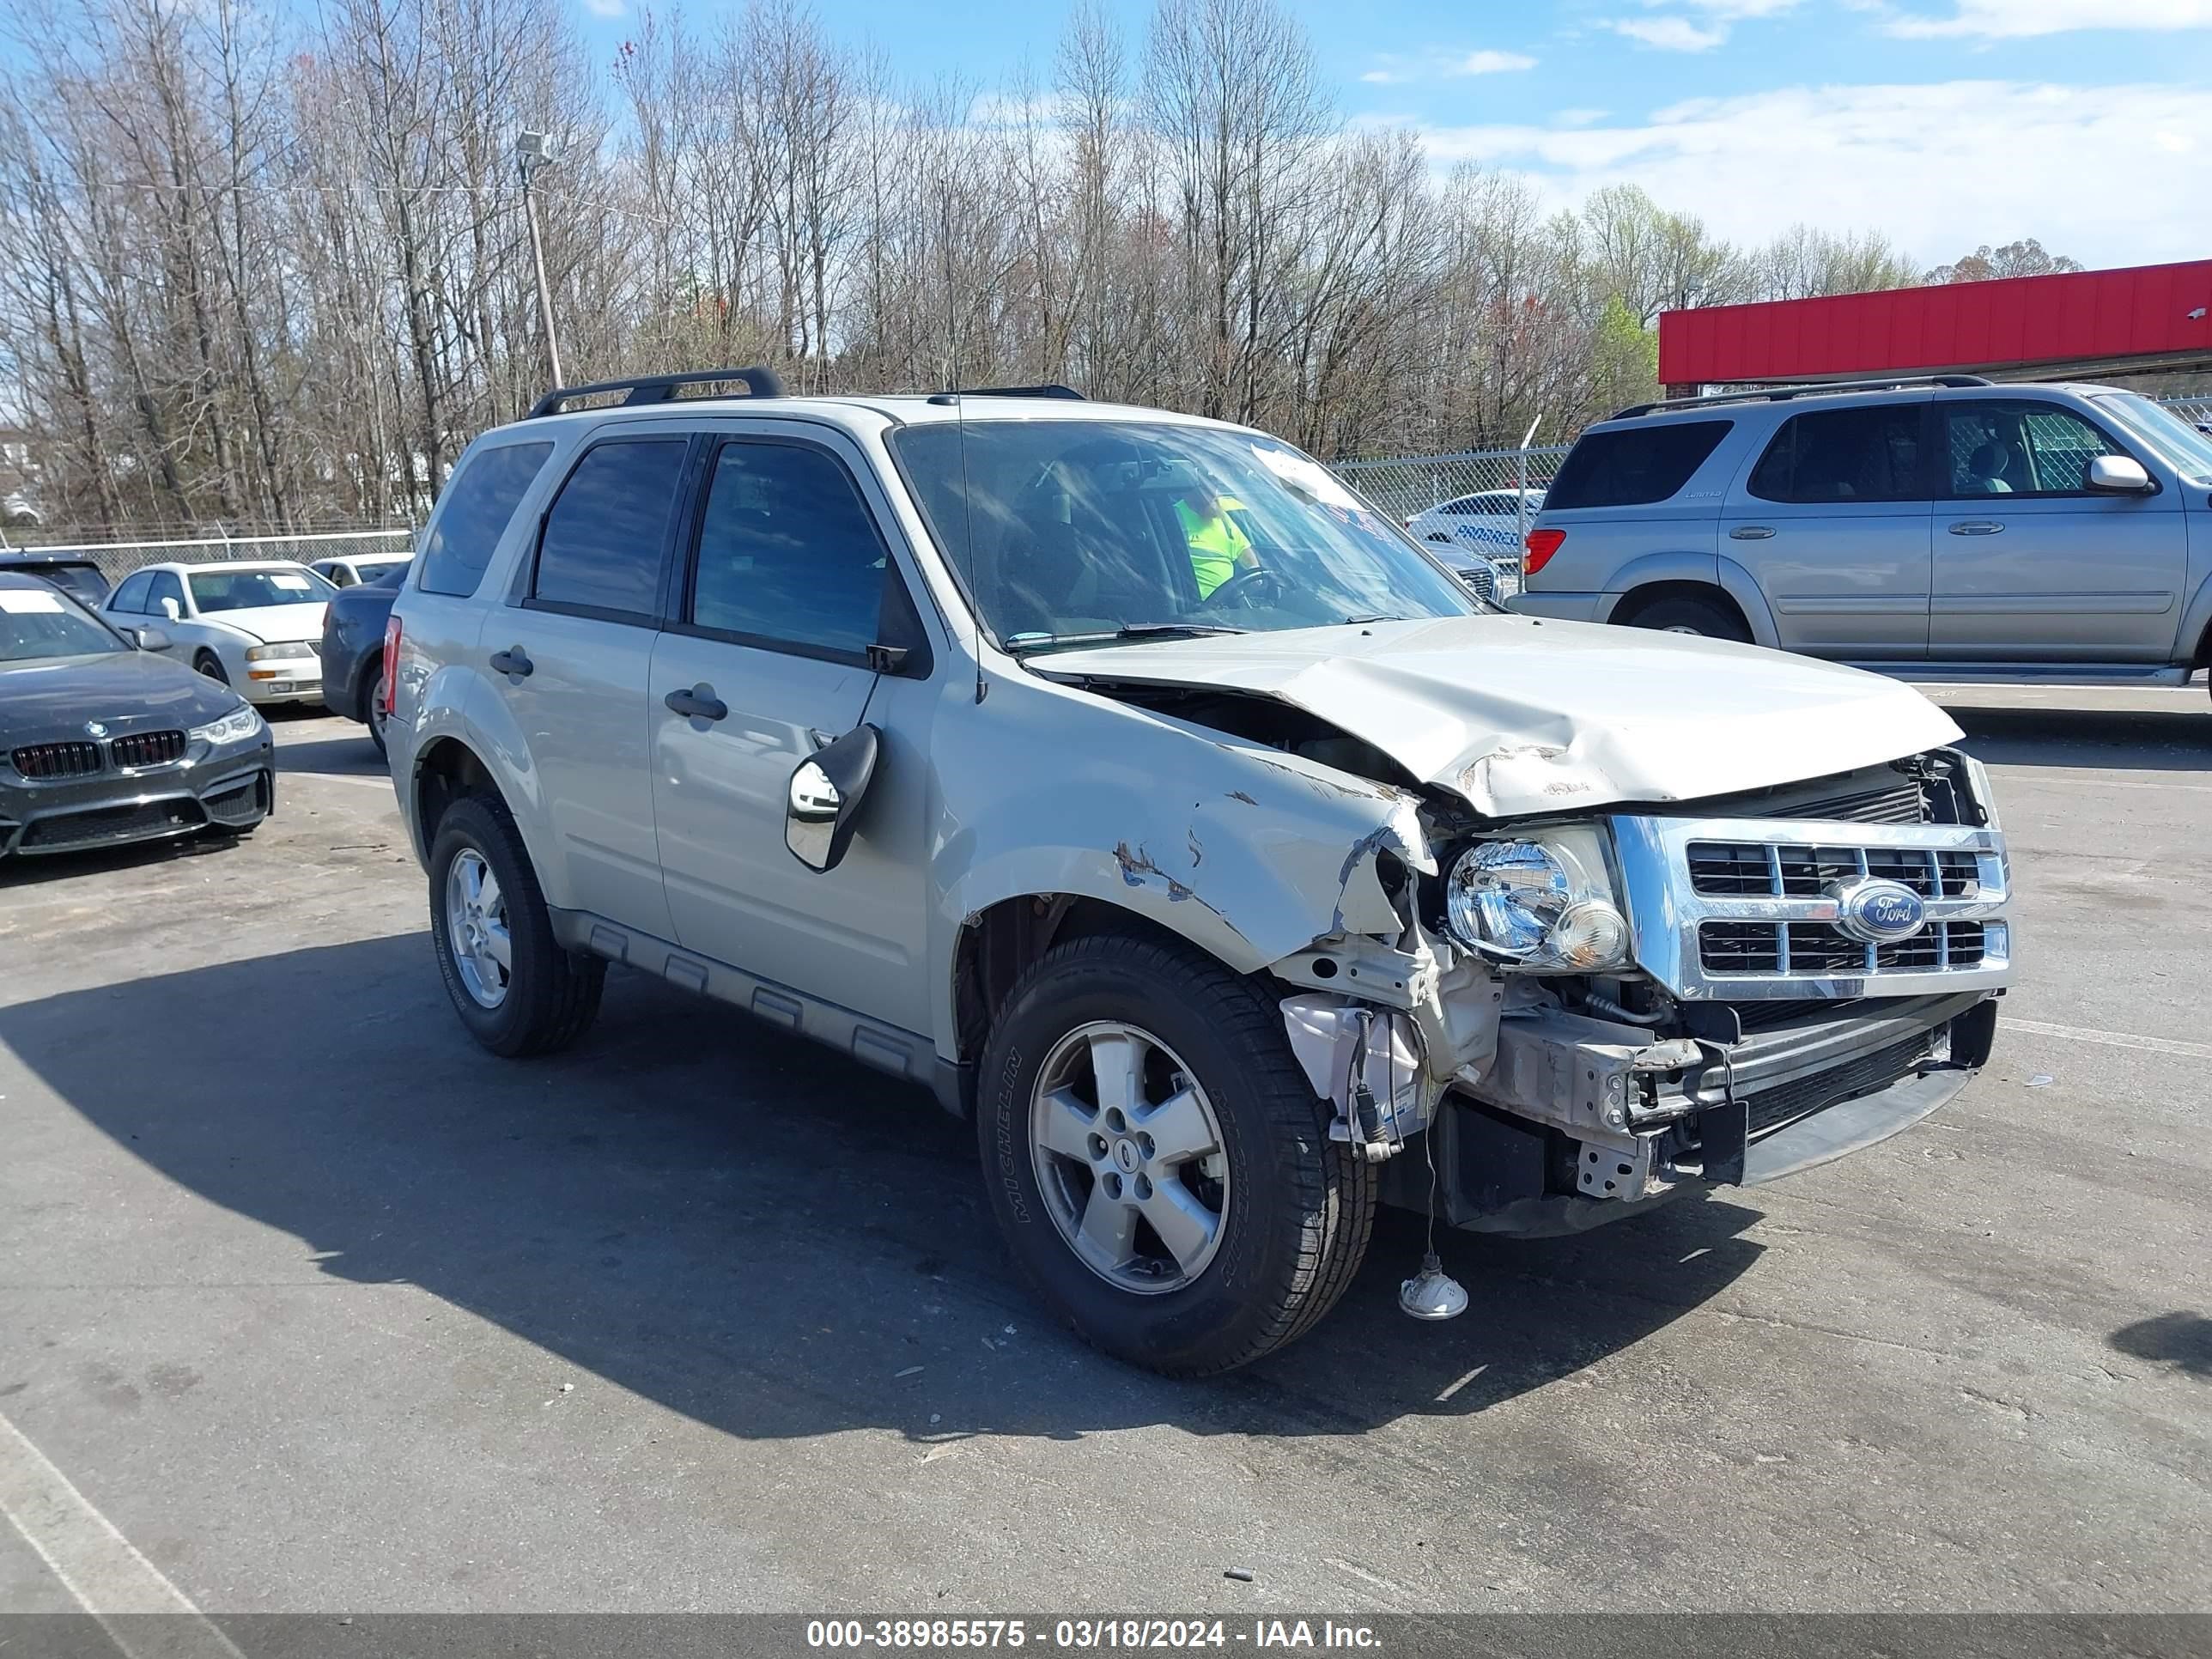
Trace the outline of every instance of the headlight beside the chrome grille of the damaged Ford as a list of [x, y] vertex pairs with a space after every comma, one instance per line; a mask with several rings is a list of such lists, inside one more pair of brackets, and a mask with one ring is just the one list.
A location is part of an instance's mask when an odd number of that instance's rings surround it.
[[1628, 920], [1595, 825], [1478, 841], [1444, 876], [1444, 922], [1460, 945], [1513, 967], [1595, 973], [1628, 960]]

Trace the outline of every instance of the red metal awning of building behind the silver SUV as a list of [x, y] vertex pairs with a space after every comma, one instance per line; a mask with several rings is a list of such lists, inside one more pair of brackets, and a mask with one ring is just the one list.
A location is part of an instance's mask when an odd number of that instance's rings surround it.
[[1659, 314], [1663, 385], [2212, 361], [2212, 259]]

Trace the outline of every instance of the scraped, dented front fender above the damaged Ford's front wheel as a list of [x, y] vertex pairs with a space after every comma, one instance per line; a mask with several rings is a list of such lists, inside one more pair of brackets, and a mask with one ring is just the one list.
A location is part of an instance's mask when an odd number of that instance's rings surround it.
[[949, 721], [931, 856], [933, 1024], [951, 1053], [962, 927], [1009, 898], [1066, 894], [1144, 916], [1239, 973], [1329, 933], [1391, 936], [1389, 852], [1431, 867], [1413, 796], [1071, 686], [993, 684]]

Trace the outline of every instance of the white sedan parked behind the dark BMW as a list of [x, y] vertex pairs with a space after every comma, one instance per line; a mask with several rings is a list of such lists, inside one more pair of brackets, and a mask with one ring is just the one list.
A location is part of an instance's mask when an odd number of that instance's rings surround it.
[[155, 624], [159, 650], [250, 703], [323, 701], [323, 602], [336, 588], [285, 560], [148, 564], [102, 606], [119, 628]]

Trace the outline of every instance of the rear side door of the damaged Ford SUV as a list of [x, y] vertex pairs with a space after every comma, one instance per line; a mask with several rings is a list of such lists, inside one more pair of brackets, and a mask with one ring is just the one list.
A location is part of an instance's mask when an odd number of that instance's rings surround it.
[[484, 677], [533, 765], [555, 905], [670, 936], [653, 843], [646, 681], [686, 438], [611, 438], [544, 513], [524, 597], [484, 619]]

